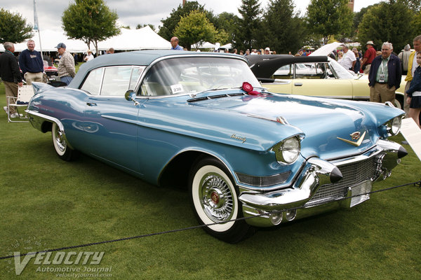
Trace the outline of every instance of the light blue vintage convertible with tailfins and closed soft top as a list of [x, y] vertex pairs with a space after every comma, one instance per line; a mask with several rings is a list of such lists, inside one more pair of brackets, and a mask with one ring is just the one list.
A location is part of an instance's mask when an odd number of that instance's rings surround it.
[[368, 200], [406, 155], [387, 140], [404, 115], [392, 104], [272, 94], [238, 55], [101, 55], [68, 87], [34, 90], [30, 122], [52, 132], [60, 158], [81, 152], [187, 186], [199, 223], [232, 243], [256, 226]]

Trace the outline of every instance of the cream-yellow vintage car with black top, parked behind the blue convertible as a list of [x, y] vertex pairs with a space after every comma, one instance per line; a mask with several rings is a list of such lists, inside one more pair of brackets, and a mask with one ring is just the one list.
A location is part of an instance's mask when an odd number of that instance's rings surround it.
[[[253, 55], [250, 69], [269, 92], [330, 97], [370, 99], [368, 75], [355, 74], [326, 55], [293, 57], [291, 55]], [[403, 108], [405, 77], [396, 90], [395, 106]]]

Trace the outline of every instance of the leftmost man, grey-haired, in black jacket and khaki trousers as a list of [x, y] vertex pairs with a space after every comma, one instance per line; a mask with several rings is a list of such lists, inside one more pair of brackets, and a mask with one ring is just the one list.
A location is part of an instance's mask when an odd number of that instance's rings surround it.
[[[0, 77], [3, 80], [4, 87], [6, 89], [6, 102], [7, 97], [18, 97], [18, 87], [22, 87], [22, 77], [20, 76], [20, 70], [18, 66], [18, 60], [15, 55], [15, 45], [11, 42], [3, 44], [4, 53], [0, 55]], [[3, 107], [6, 113], [10, 113], [11, 118], [16, 118], [19, 114], [15, 111], [15, 107], [11, 106], [10, 112], [6, 106]]]

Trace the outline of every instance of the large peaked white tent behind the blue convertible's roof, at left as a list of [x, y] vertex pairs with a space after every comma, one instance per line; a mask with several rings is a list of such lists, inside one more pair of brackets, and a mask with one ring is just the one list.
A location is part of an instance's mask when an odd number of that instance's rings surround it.
[[[34, 32], [32, 40], [35, 41], [35, 50], [40, 50], [39, 35]], [[88, 45], [81, 40], [69, 39], [62, 31], [45, 30], [41, 31], [41, 47], [43, 52], [57, 51], [58, 43], [65, 43], [69, 52], [87, 52]], [[169, 50], [171, 43], [159, 36], [151, 27], [141, 29], [121, 29], [121, 34], [98, 42], [98, 50]], [[27, 41], [15, 44], [15, 52], [22, 52], [27, 49]], [[93, 50], [91, 44], [91, 50]], [[4, 52], [3, 45], [0, 45], [0, 52]]]

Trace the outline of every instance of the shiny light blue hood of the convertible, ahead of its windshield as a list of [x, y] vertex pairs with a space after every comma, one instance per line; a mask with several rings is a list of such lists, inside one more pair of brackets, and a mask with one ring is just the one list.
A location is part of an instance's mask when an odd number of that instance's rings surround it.
[[[234, 111], [241, 116], [265, 121], [257, 129], [266, 130], [265, 137], [272, 137], [272, 139], [274, 137], [290, 137], [294, 132], [291, 127], [295, 127], [295, 132], [301, 131], [305, 135], [302, 140], [302, 155], [305, 158], [316, 155], [320, 158], [330, 159], [338, 158], [341, 155], [362, 153], [373, 147], [379, 139], [378, 127], [390, 118], [401, 114], [401, 110], [396, 109], [396, 111], [383, 104], [379, 104], [379, 106], [366, 103], [365, 106], [371, 106], [374, 109], [361, 109], [361, 102], [337, 102], [331, 99], [287, 94], [262, 94], [260, 96], [209, 99], [194, 102], [193, 105], [208, 109]], [[388, 109], [391, 110], [388, 111]], [[382, 113], [382, 111], [388, 113]], [[288, 125], [276, 122], [279, 118], [286, 120]], [[276, 123], [276, 127], [274, 127], [274, 123]], [[253, 127], [251, 122], [250, 127]], [[286, 131], [286, 134], [283, 134], [283, 131]], [[264, 132], [260, 131], [261, 133]], [[364, 136], [359, 146], [341, 140], [356, 141], [352, 139], [352, 134]], [[255, 134], [255, 137], [259, 136], [261, 135]], [[278, 138], [275, 143], [283, 139]]]

